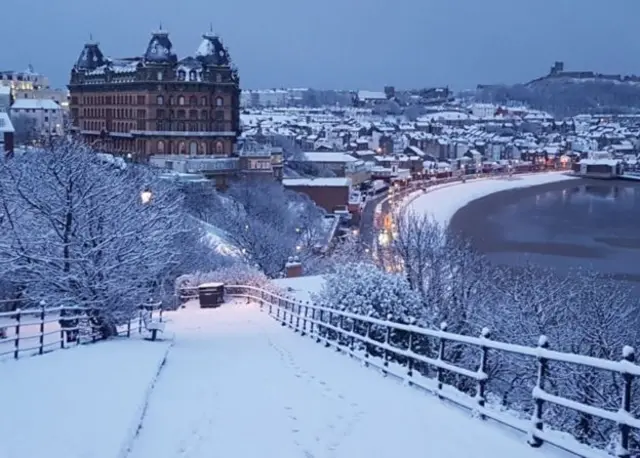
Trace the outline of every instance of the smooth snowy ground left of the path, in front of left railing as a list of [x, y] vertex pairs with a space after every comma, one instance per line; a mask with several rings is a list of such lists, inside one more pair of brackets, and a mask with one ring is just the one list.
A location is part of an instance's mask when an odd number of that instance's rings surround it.
[[0, 362], [0, 457], [121, 456], [169, 345], [118, 339]]

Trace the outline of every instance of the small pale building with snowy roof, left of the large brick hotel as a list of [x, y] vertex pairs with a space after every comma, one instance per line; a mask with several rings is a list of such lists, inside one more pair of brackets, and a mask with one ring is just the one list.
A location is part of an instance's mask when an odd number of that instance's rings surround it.
[[[64, 114], [62, 107], [49, 99], [16, 99], [11, 105], [14, 123], [28, 126], [34, 137], [62, 135]], [[17, 125], [16, 125], [17, 127]], [[26, 132], [23, 132], [26, 134]]]

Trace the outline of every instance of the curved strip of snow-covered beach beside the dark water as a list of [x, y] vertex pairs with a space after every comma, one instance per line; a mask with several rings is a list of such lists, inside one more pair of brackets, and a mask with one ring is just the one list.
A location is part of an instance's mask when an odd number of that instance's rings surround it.
[[550, 172], [546, 174], [514, 175], [513, 177], [497, 177], [488, 180], [468, 181], [454, 186], [434, 189], [410, 202], [407, 213], [430, 214], [442, 225], [449, 224], [455, 213], [476, 199], [480, 199], [494, 192], [510, 189], [527, 188], [564, 180], [574, 180], [576, 177], [564, 172]]

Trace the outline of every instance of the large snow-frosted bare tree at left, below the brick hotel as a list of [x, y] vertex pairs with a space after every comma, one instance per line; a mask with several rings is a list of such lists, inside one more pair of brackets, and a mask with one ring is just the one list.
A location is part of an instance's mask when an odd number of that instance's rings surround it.
[[89, 308], [105, 337], [161, 297], [193, 231], [169, 183], [67, 139], [2, 164], [0, 205], [0, 274], [30, 299]]

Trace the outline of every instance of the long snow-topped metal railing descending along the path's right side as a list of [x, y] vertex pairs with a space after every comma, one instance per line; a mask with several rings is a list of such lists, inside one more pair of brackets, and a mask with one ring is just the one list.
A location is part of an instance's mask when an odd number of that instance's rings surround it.
[[[440, 330], [425, 329], [414, 324], [393, 322], [392, 317], [380, 320], [369, 316], [321, 307], [311, 303], [302, 303], [273, 291], [252, 286], [226, 285], [228, 296], [247, 298], [257, 301], [260, 307], [283, 326], [288, 326], [301, 335], [308, 335], [327, 347], [345, 352], [364, 362], [379, 368], [385, 374], [391, 374], [436, 394], [441, 399], [451, 401], [461, 407], [474, 411], [482, 419], [492, 419], [528, 435], [532, 447], [549, 443], [572, 454], [587, 458], [602, 458], [603, 450], [595, 449], [567, 440], [558, 431], [545, 425], [543, 413], [549, 405], [556, 405], [579, 413], [614, 422], [618, 426], [616, 456], [630, 458], [630, 439], [632, 430], [640, 429], [640, 420], [632, 415], [631, 395], [634, 379], [640, 377], [640, 366], [635, 364], [635, 351], [624, 347], [620, 361], [611, 361], [590, 356], [575, 355], [553, 351], [549, 341], [541, 336], [536, 347], [514, 345], [491, 339], [490, 330], [485, 328], [480, 336], [471, 337], [447, 332], [446, 324]], [[187, 294], [187, 296], [190, 296]], [[394, 339], [401, 334], [403, 339]], [[420, 339], [430, 339], [436, 343], [437, 357], [420, 354], [416, 344]], [[395, 340], [395, 341], [394, 341]], [[397, 340], [402, 341], [399, 345]], [[450, 343], [469, 345], [478, 350], [477, 369], [460, 367], [445, 358], [445, 349]], [[502, 352], [520, 355], [531, 359], [537, 367], [536, 383], [531, 392], [533, 405], [530, 421], [522, 421], [513, 415], [497, 411], [486, 405], [486, 386], [489, 380], [487, 371], [490, 352]], [[378, 357], [379, 356], [379, 357]], [[393, 361], [402, 361], [396, 366]], [[601, 407], [584, 404], [546, 391], [549, 384], [549, 363], [560, 362], [594, 370], [604, 370], [621, 376], [622, 396], [620, 409], [611, 411]], [[416, 374], [419, 365], [435, 370], [435, 377], [427, 378]], [[455, 389], [447, 389], [446, 374], [455, 374], [475, 384], [475, 396], [466, 395]], [[449, 387], [451, 388], [451, 387]]]

